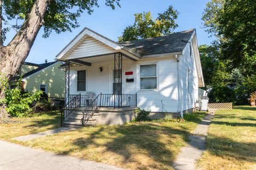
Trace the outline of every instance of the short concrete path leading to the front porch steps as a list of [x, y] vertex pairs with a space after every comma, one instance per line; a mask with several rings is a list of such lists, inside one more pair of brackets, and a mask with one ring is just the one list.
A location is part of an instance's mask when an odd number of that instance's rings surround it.
[[49, 131], [44, 131], [44, 132], [39, 132], [39, 133], [34, 133], [34, 134], [28, 134], [28, 135], [25, 135], [25, 136], [20, 136], [20, 137], [16, 137], [16, 138], [12, 138], [12, 139], [25, 142], [25, 141], [36, 139], [36, 138], [46, 137], [47, 135], [50, 135], [50, 134], [69, 131], [69, 130], [74, 130], [74, 129], [75, 128], [63, 128], [62, 127], [62, 128], [58, 128], [58, 129], [49, 130]]

